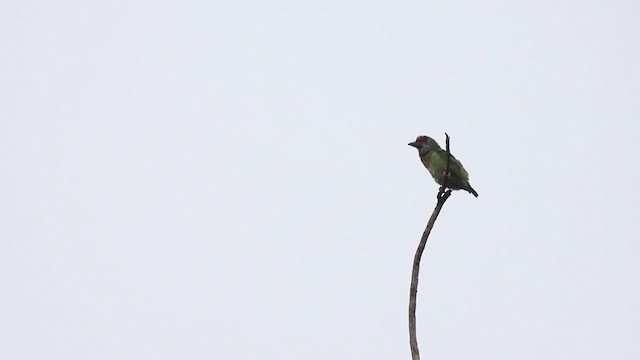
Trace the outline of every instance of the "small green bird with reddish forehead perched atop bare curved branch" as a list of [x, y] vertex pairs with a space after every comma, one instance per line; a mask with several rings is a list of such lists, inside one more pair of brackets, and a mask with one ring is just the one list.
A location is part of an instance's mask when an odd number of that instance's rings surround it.
[[[445, 172], [447, 170], [447, 151], [442, 150], [440, 145], [432, 138], [420, 135], [416, 141], [407, 144], [418, 149], [420, 161], [427, 168], [433, 180], [439, 185], [444, 185]], [[449, 160], [449, 176], [447, 178], [447, 187], [452, 190], [465, 190], [475, 197], [478, 192], [469, 184], [469, 174], [464, 169], [462, 163], [453, 155]]]

